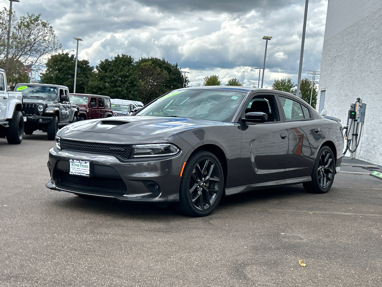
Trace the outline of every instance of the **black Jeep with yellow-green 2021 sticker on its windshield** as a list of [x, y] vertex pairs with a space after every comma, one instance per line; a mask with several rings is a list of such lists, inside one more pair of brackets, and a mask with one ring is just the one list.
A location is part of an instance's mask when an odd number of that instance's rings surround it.
[[15, 91], [23, 94], [24, 132], [27, 135], [42, 130], [48, 132], [48, 140], [54, 140], [59, 127], [77, 121], [78, 106], [70, 103], [66, 86], [18, 83]]

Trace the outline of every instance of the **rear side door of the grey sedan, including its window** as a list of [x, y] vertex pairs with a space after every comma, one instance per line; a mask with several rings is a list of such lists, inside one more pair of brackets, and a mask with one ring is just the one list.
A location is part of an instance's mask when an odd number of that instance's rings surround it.
[[310, 176], [315, 155], [322, 142], [321, 121], [313, 119], [308, 106], [296, 99], [278, 95], [288, 126], [289, 151], [285, 178]]

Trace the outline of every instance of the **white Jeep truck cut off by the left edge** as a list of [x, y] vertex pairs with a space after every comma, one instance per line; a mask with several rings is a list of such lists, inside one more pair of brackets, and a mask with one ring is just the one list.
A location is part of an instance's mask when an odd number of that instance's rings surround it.
[[8, 92], [6, 75], [0, 69], [0, 137], [6, 137], [8, 143], [19, 144], [24, 137], [23, 95]]

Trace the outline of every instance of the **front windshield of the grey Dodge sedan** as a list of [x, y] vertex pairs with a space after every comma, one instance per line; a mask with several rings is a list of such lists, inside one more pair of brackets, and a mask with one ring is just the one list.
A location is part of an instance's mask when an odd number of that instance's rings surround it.
[[142, 109], [139, 116], [177, 116], [230, 122], [245, 93], [219, 90], [173, 91]]

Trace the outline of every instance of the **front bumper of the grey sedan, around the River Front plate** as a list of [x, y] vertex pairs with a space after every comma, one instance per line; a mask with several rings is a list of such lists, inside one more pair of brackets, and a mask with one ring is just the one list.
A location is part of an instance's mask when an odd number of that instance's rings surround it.
[[[91, 162], [91, 177], [69, 174], [69, 159]], [[182, 152], [171, 158], [121, 162], [111, 155], [58, 150], [49, 151], [47, 166], [49, 189], [102, 197], [115, 197], [128, 201], [179, 201]], [[126, 189], [120, 188], [126, 185]], [[159, 191], [150, 190], [157, 184]], [[117, 187], [116, 187], [117, 186]], [[151, 185], [152, 187], [152, 185]], [[118, 190], [117, 190], [118, 189]]]

